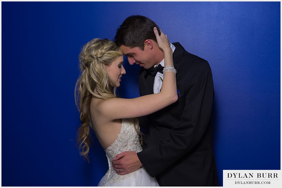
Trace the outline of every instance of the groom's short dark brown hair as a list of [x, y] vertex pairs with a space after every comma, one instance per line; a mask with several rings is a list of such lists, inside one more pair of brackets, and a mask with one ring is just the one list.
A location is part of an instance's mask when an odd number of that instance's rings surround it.
[[144, 50], [144, 41], [152, 39], [157, 42], [153, 28], [157, 27], [159, 35], [161, 34], [159, 27], [149, 18], [141, 15], [132, 15], [126, 18], [117, 28], [115, 35], [115, 44], [117, 46], [139, 47]]

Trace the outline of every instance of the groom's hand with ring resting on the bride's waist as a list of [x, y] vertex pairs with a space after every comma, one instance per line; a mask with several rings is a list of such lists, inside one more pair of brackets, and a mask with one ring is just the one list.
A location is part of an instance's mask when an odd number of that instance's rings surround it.
[[142, 163], [135, 151], [125, 151], [113, 158], [112, 165], [117, 174], [125, 175], [138, 170]]

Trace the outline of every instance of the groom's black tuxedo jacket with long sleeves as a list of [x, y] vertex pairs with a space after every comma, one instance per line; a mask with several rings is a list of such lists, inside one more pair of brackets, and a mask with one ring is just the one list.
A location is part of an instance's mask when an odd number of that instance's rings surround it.
[[[137, 155], [160, 186], [218, 186], [211, 130], [212, 71], [206, 60], [178, 42], [173, 45], [180, 96], [174, 104], [139, 118], [140, 127], [149, 131]], [[147, 70], [141, 68], [141, 96], [152, 94], [146, 76]]]

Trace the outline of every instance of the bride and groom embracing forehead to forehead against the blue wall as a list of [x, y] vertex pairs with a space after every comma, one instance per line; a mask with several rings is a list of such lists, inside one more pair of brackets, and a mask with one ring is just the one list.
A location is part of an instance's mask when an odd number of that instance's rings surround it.
[[[126, 73], [123, 54], [141, 66], [141, 97], [115, 94]], [[206, 60], [170, 43], [155, 22], [140, 15], [125, 19], [114, 42], [85, 44], [79, 59], [78, 147], [88, 160], [93, 129], [109, 164], [98, 186], [218, 186], [214, 89]]]

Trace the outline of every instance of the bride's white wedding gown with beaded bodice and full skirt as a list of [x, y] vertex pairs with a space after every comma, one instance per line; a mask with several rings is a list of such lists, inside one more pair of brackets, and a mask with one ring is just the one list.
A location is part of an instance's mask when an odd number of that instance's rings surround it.
[[156, 178], [151, 177], [144, 167], [126, 175], [117, 174], [111, 161], [117, 154], [124, 151], [142, 151], [138, 133], [134, 128], [134, 119], [122, 119], [120, 134], [115, 142], [105, 150], [109, 170], [102, 177], [98, 186], [159, 186]]

